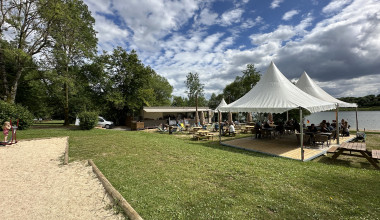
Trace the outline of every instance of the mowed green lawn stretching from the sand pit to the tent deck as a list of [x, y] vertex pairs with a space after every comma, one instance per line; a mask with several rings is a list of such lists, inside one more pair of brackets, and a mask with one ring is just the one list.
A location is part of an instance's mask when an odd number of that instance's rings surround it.
[[[70, 136], [70, 160], [93, 159], [144, 219], [378, 219], [380, 171], [365, 159], [312, 162], [175, 135], [30, 129]], [[380, 149], [380, 135], [367, 145]], [[350, 158], [347, 158], [350, 160]]]

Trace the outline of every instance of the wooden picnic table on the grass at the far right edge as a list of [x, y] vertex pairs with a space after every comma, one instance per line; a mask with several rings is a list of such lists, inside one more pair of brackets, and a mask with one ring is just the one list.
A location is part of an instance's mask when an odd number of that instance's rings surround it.
[[[349, 151], [350, 153], [346, 153], [347, 151]], [[367, 150], [367, 146], [365, 143], [344, 142], [338, 147], [338, 150], [334, 153], [334, 155], [332, 156], [332, 159], [338, 158], [339, 155], [349, 155], [349, 156], [360, 157], [360, 155], [354, 155], [354, 154], [351, 154], [351, 152], [359, 152], [361, 154], [361, 157], [366, 158], [376, 169], [380, 170], [380, 167], [377, 165], [376, 161], [371, 158], [371, 153]]]

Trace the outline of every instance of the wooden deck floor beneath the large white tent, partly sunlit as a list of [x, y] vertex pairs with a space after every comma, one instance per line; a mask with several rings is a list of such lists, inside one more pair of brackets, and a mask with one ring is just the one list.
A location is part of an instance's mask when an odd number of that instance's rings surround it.
[[[346, 142], [355, 138], [355, 135], [349, 137], [340, 137], [340, 143]], [[276, 157], [285, 157], [294, 160], [301, 160], [301, 148], [295, 134], [283, 135], [274, 139], [255, 139], [252, 137], [224, 141], [222, 145], [240, 148], [248, 151], [259, 152]], [[330, 146], [306, 146], [304, 148], [304, 161], [309, 161], [317, 158], [327, 152], [327, 150], [336, 145], [336, 140], [331, 141]]]

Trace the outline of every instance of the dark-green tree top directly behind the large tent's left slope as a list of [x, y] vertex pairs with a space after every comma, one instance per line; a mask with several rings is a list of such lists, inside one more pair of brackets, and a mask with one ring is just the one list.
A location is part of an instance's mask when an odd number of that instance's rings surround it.
[[253, 64], [248, 64], [247, 69], [242, 72], [243, 76], [237, 76], [235, 80], [223, 90], [224, 97], [228, 103], [241, 98], [260, 81], [260, 72], [256, 70]]

